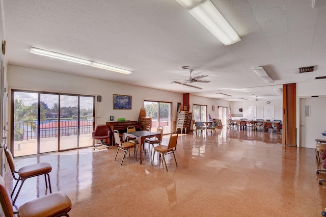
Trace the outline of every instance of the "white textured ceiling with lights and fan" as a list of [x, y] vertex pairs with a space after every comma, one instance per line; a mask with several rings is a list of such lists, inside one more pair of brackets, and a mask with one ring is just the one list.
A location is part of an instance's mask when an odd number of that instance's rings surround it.
[[[9, 64], [237, 101], [326, 75], [326, 6], [307, 0], [211, 0], [241, 41], [225, 46], [175, 0], [4, 1]], [[320, 1], [320, 0], [319, 0]], [[319, 2], [318, 2], [319, 3]], [[119, 74], [29, 53], [30, 46], [132, 70]], [[298, 74], [298, 67], [316, 65]], [[189, 72], [210, 83], [177, 84]], [[264, 66], [275, 83], [252, 67]], [[225, 93], [225, 97], [216, 93]], [[264, 97], [265, 96], [265, 97]]]

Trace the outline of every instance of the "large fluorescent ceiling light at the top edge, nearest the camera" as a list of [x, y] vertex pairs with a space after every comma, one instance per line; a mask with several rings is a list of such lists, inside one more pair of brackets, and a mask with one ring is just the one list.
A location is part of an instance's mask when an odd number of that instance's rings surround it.
[[224, 45], [241, 41], [232, 26], [222, 14], [209, 1], [176, 0], [183, 8], [188, 10], [207, 30], [209, 30]]

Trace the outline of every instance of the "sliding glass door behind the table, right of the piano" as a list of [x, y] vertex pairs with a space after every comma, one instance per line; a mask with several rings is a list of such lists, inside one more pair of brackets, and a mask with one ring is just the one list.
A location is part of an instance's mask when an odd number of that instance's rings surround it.
[[163, 133], [172, 132], [172, 102], [144, 101], [146, 117], [152, 118], [151, 131], [156, 132], [158, 126], [162, 126]]

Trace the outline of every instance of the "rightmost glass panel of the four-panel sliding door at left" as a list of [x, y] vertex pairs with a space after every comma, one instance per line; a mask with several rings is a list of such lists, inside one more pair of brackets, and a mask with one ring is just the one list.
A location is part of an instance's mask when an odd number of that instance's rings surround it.
[[79, 147], [93, 145], [94, 97], [79, 97]]

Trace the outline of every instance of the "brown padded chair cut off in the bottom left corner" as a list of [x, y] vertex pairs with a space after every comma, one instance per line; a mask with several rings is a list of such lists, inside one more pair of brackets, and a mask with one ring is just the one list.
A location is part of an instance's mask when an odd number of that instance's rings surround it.
[[21, 217], [69, 216], [68, 212], [71, 210], [71, 201], [68, 196], [63, 192], [56, 192], [24, 203], [18, 211], [14, 211], [11, 197], [2, 176], [0, 176], [0, 203], [6, 217], [12, 217], [16, 213]]

